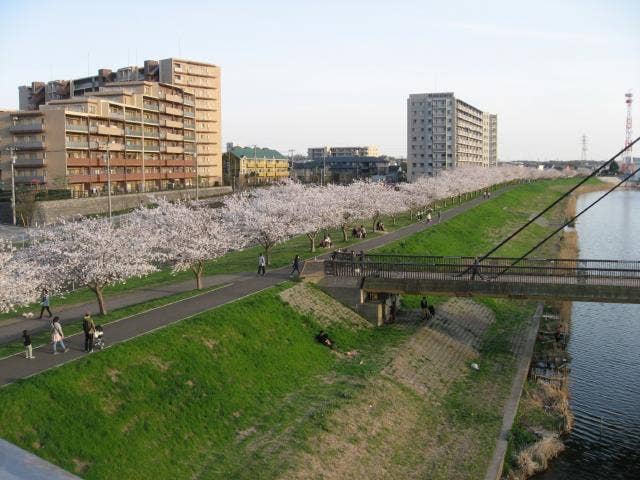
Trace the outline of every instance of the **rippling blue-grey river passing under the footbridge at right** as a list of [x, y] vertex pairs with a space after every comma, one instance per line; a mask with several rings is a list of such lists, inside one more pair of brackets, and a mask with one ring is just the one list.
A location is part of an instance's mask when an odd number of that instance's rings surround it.
[[[602, 192], [578, 198], [581, 210]], [[640, 191], [612, 193], [576, 223], [581, 258], [640, 258]], [[575, 427], [536, 479], [640, 479], [640, 305], [572, 308], [569, 352]]]

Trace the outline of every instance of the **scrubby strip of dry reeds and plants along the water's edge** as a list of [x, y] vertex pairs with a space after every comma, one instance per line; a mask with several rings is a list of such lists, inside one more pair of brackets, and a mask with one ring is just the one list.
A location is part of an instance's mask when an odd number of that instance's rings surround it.
[[[564, 218], [575, 216], [580, 195], [609, 186], [606, 182], [582, 186], [565, 202]], [[557, 242], [557, 258], [578, 257], [577, 232], [565, 228]], [[574, 424], [569, 405], [571, 358], [567, 352], [571, 306], [571, 302], [548, 302], [545, 306], [528, 381], [509, 437], [503, 478], [526, 480], [546, 470], [549, 461], [565, 449], [562, 437]]]

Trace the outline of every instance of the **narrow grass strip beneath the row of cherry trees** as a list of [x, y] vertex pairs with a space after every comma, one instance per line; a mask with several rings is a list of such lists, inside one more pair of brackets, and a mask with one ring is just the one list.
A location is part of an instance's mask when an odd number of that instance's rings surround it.
[[[449, 199], [446, 202], [439, 202], [434, 205], [434, 208], [438, 208], [441, 211], [444, 211], [457, 206], [459, 204], [458, 202], [464, 203], [465, 201], [472, 200], [479, 194], [480, 192], [474, 192], [464, 195], [462, 198], [456, 199], [455, 201], [454, 199]], [[410, 225], [417, 221], [416, 217], [413, 216], [412, 218], [409, 212], [396, 216], [395, 222], [392, 218], [386, 216], [383, 216], [381, 220], [384, 222], [385, 230], [387, 232], [392, 232], [399, 228], [406, 227], [407, 225]], [[373, 231], [371, 222], [372, 221], [370, 219], [356, 220], [353, 222], [353, 225], [355, 226], [364, 224], [367, 227], [367, 231], [369, 232], [367, 235], [368, 238], [383, 235], [381, 233]], [[327, 230], [327, 232], [331, 236], [335, 248], [349, 248], [362, 241], [361, 239], [351, 238], [351, 232], [349, 232], [349, 239], [346, 242], [343, 240], [342, 232], [340, 230], [329, 229]], [[216, 261], [207, 262], [204, 270], [204, 275], [208, 276], [223, 273], [253, 271], [257, 268], [257, 258], [261, 251], [261, 247], [252, 247], [237, 252], [228, 253], [227, 255]], [[273, 247], [270, 258], [270, 268], [279, 268], [290, 264], [295, 255], [300, 255], [303, 259], [307, 259], [313, 258], [315, 255], [325, 253], [326, 251], [326, 249], [317, 248], [316, 252], [310, 252], [309, 239], [306, 235], [299, 235]], [[131, 290], [139, 288], [160, 286], [167, 283], [176, 283], [181, 281], [193, 281], [195, 285], [193, 275], [189, 271], [173, 274], [169, 269], [163, 269], [145, 277], [131, 278], [126, 283], [105, 288], [107, 307], [109, 305], [110, 296], [129, 292]], [[52, 308], [55, 309], [56, 307], [63, 305], [73, 305], [92, 301], [95, 301], [95, 294], [87, 288], [81, 288], [70, 292], [69, 294], [65, 295], [64, 298], [53, 297]], [[2, 320], [15, 318], [17, 315], [20, 315], [21, 313], [27, 311], [35, 311], [36, 313], [38, 313], [40, 311], [40, 306], [32, 305], [30, 307], [20, 308], [14, 312], [0, 313], [0, 323], [2, 322]]]

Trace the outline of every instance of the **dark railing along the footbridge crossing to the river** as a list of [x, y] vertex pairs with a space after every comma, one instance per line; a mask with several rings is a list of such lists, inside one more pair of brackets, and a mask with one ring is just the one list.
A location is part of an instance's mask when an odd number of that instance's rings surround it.
[[[524, 259], [339, 253], [325, 262], [327, 275], [430, 280], [618, 283], [640, 286], [640, 261]], [[515, 263], [517, 261], [517, 263]]]

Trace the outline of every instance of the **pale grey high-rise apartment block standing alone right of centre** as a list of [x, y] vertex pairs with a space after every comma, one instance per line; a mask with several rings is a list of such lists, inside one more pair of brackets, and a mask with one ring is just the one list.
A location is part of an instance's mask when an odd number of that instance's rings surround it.
[[485, 118], [484, 112], [451, 92], [409, 96], [407, 177], [410, 181], [456, 166], [489, 166], [491, 151], [497, 161], [496, 142], [496, 115], [486, 114]]

